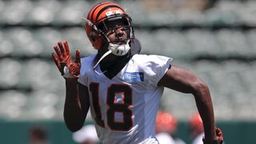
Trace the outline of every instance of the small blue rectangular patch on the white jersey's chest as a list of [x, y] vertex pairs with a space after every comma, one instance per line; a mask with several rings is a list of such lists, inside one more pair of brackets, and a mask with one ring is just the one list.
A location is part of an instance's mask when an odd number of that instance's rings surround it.
[[142, 72], [125, 72], [125, 82], [144, 82], [144, 74]]

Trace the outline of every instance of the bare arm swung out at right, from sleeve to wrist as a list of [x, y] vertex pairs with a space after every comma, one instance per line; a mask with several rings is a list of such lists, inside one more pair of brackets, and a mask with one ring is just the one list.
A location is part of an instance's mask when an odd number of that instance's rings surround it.
[[195, 74], [179, 66], [171, 66], [166, 74], [158, 82], [158, 86], [165, 86], [186, 94], [193, 94], [201, 115], [205, 130], [205, 142], [216, 143], [218, 137], [215, 134], [214, 108], [210, 98], [208, 86]]

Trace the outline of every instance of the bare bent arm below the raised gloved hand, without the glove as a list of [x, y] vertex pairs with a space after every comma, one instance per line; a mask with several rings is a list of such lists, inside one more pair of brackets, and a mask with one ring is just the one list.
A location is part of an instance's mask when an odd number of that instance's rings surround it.
[[89, 94], [86, 86], [78, 82], [78, 78], [65, 78], [66, 99], [64, 120], [67, 128], [74, 132], [80, 130], [86, 120], [90, 108]]

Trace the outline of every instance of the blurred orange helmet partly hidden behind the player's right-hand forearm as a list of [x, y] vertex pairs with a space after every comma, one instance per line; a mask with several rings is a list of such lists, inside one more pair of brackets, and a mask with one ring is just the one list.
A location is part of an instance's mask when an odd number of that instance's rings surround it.
[[202, 118], [198, 112], [194, 113], [189, 120], [190, 129], [195, 135], [203, 132]]

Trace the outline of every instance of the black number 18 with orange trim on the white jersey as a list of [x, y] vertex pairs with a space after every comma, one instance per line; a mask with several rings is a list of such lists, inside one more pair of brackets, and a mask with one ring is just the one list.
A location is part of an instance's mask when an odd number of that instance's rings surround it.
[[[104, 120], [102, 119], [102, 111], [99, 105], [99, 83], [90, 83], [90, 93], [93, 102], [93, 108], [95, 112], [94, 120], [102, 127], [105, 127]], [[115, 102], [116, 94], [123, 94], [123, 102]], [[108, 109], [106, 110], [107, 124], [111, 130], [130, 130], [133, 126], [132, 111], [130, 106], [132, 105], [132, 89], [127, 85], [112, 84], [107, 89], [106, 105]], [[123, 121], [115, 122], [115, 113], [122, 113]]]

